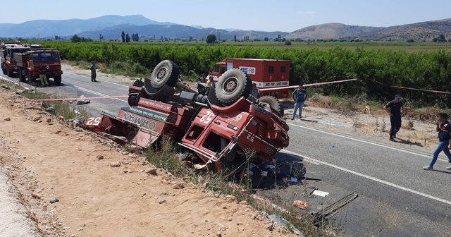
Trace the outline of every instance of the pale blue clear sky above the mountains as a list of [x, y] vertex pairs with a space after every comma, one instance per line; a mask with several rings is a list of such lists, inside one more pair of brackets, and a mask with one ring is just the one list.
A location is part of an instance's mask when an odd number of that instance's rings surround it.
[[202, 25], [204, 28], [292, 32], [323, 23], [392, 26], [451, 18], [450, 0], [25, 0], [20, 3], [17, 7], [20, 11], [3, 8], [0, 23], [143, 15], [160, 22]]

